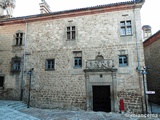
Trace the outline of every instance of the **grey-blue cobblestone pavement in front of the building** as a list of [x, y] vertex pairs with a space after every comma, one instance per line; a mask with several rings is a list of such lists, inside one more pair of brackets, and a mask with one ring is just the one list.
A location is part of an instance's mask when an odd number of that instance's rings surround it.
[[160, 120], [158, 114], [145, 115], [27, 108], [20, 101], [0, 100], [0, 120]]

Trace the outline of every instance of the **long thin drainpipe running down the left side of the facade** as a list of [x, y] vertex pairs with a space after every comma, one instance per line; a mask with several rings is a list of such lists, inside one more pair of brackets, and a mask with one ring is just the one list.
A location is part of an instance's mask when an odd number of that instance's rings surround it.
[[23, 100], [23, 92], [24, 92], [24, 71], [26, 69], [26, 40], [27, 40], [27, 31], [28, 31], [28, 23], [25, 18], [23, 18], [24, 22], [26, 23], [26, 30], [25, 30], [25, 38], [24, 38], [24, 50], [23, 50], [23, 68], [22, 68], [22, 81], [21, 81], [21, 96], [20, 100]]

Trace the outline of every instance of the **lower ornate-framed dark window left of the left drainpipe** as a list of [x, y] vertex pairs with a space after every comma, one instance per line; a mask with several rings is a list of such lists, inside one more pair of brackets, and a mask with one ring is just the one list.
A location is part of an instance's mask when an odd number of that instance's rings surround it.
[[11, 72], [20, 72], [20, 65], [21, 65], [21, 58], [15, 56], [12, 58], [12, 63], [11, 63]]

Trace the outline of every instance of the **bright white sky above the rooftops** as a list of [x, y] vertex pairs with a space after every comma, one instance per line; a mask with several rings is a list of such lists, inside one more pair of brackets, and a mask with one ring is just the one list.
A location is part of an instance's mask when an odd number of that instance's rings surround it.
[[[46, 0], [52, 12], [90, 7], [130, 0]], [[16, 0], [14, 17], [40, 14], [41, 0]], [[160, 30], [160, 0], [145, 0], [141, 9], [141, 23], [152, 27], [152, 34]]]

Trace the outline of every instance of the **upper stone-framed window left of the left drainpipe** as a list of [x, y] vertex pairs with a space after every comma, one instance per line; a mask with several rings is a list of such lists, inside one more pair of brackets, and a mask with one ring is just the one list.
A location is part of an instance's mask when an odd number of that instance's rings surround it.
[[23, 45], [23, 39], [24, 39], [24, 33], [20, 30], [17, 31], [14, 35], [14, 45], [15, 46], [21, 46]]

